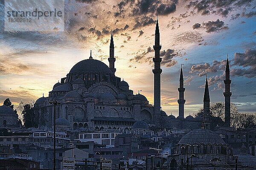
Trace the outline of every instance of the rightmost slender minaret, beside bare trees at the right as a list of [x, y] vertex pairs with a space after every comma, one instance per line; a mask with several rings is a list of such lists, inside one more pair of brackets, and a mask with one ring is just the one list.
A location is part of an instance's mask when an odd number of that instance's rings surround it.
[[225, 92], [223, 93], [225, 97], [225, 126], [230, 127], [230, 96], [232, 93], [230, 92], [230, 69], [229, 69], [229, 62], [228, 62], [228, 54], [227, 54], [227, 64], [226, 64], [226, 71], [225, 71], [226, 79], [224, 79], [225, 84]]

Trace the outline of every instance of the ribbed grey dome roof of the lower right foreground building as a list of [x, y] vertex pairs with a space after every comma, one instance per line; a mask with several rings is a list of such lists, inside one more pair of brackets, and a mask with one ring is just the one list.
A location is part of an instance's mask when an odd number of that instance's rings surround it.
[[196, 129], [180, 139], [179, 144], [225, 144], [221, 136], [208, 129]]

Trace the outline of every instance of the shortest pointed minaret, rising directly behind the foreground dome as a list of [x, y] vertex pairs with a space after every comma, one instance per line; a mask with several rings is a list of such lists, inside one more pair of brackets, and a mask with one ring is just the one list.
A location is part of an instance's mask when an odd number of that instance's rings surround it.
[[206, 75], [205, 88], [204, 88], [204, 126], [209, 129], [209, 116], [210, 116], [210, 95], [208, 87], [208, 78]]

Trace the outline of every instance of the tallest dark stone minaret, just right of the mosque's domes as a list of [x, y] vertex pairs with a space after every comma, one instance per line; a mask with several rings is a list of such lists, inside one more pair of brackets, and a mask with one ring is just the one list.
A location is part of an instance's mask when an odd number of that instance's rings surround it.
[[154, 69], [152, 70], [154, 73], [154, 116], [160, 116], [160, 108], [161, 108], [161, 80], [160, 75], [162, 73], [162, 69], [160, 68], [162, 58], [160, 58], [160, 33], [159, 33], [159, 27], [158, 27], [158, 19], [156, 24], [156, 30], [155, 30], [155, 45], [154, 51], [155, 56], [153, 58], [154, 62]]

